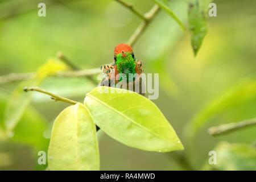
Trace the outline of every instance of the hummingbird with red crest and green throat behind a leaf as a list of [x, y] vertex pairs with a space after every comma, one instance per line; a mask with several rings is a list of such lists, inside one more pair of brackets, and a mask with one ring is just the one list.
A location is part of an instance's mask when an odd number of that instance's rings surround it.
[[[101, 66], [105, 77], [100, 82], [100, 86], [114, 87], [119, 82], [126, 82], [127, 88], [132, 84], [132, 91], [144, 96], [144, 82], [140, 76], [143, 73], [142, 61], [134, 56], [133, 48], [127, 44], [118, 44], [114, 48], [114, 63]], [[135, 89], [135, 84], [139, 84], [139, 90]]]

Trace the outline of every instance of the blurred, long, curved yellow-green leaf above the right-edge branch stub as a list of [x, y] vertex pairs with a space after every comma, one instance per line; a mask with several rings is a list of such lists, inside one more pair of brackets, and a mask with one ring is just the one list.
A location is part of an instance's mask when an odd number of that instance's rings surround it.
[[243, 102], [250, 101], [256, 97], [256, 80], [246, 80], [241, 84], [227, 90], [220, 97], [209, 102], [198, 114], [193, 117], [187, 126], [188, 138], [193, 138], [197, 131], [203, 127], [211, 117], [220, 111]]

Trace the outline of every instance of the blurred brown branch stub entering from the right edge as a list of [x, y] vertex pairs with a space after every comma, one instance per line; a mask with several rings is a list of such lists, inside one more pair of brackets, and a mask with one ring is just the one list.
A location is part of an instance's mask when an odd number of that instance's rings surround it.
[[218, 135], [224, 135], [253, 125], [256, 126], [256, 118], [247, 119], [237, 123], [228, 123], [226, 125], [210, 127], [208, 129], [208, 133], [213, 137], [216, 137]]

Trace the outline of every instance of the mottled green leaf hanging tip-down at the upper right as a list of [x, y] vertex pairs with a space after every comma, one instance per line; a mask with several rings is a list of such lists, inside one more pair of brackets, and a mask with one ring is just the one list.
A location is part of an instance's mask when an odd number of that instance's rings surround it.
[[207, 34], [208, 28], [207, 14], [205, 13], [205, 9], [199, 5], [198, 1], [189, 4], [188, 23], [191, 32], [191, 44], [196, 56]]

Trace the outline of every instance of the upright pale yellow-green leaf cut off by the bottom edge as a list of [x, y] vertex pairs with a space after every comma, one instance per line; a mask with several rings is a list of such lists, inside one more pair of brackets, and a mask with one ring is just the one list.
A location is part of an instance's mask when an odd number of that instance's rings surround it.
[[96, 126], [88, 109], [78, 103], [56, 118], [48, 151], [50, 170], [98, 170]]

